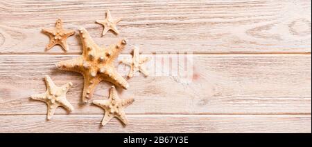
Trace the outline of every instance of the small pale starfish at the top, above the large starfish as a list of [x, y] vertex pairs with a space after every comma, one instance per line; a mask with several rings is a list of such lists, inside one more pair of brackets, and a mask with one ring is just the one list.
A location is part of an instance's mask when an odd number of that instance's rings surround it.
[[112, 16], [110, 15], [110, 10], [106, 11], [106, 18], [104, 21], [96, 20], [96, 23], [101, 24], [104, 29], [102, 32], [102, 37], [108, 32], [108, 30], [114, 31], [117, 35], [119, 35], [119, 31], [116, 28], [116, 24], [119, 23], [121, 19], [112, 19]]

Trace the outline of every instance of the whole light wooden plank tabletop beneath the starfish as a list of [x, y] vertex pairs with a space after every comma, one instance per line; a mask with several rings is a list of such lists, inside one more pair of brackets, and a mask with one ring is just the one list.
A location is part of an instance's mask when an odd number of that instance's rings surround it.
[[[107, 9], [123, 18], [119, 36], [101, 37], [94, 23]], [[98, 45], [126, 37], [144, 55], [191, 53], [191, 81], [129, 79], [118, 90], [135, 98], [125, 109], [130, 125], [112, 119], [102, 127], [104, 111], [81, 101], [83, 76], [55, 68], [81, 54], [78, 33], [69, 52], [44, 51], [41, 30], [58, 18], [64, 28], [86, 28]], [[44, 75], [58, 86], [73, 82], [73, 112], [58, 108], [46, 121], [46, 105], [30, 99], [46, 90]], [[110, 86], [102, 82], [93, 98], [106, 99]], [[311, 1], [1, 0], [0, 133], [311, 133]]]

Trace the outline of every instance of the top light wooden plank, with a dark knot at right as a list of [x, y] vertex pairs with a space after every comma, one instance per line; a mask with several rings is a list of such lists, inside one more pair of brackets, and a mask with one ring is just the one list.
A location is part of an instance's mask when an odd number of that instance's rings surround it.
[[[123, 17], [121, 35], [101, 37], [105, 10]], [[85, 27], [96, 43], [127, 37], [144, 53], [311, 52], [311, 1], [0, 1], [0, 54], [44, 52], [49, 39], [40, 31], [61, 18], [64, 28]], [[69, 37], [67, 54], [81, 52]], [[125, 52], [130, 52], [126, 50]]]

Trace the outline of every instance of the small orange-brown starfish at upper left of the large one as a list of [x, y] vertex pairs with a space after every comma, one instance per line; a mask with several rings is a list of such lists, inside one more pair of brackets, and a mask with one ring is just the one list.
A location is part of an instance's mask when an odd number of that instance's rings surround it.
[[46, 46], [46, 50], [51, 49], [55, 45], [62, 46], [65, 51], [69, 50], [66, 39], [67, 37], [75, 34], [74, 30], [63, 29], [61, 19], [56, 21], [55, 28], [44, 28], [42, 29], [42, 32], [50, 37], [50, 43]]

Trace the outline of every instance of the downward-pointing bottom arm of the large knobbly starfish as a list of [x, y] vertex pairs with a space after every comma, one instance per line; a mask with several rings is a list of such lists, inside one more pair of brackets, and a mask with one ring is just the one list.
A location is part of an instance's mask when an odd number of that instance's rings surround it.
[[83, 102], [87, 103], [87, 101], [91, 99], [96, 86], [101, 80], [99, 78], [92, 78], [89, 75], [84, 75], [84, 77], [85, 84], [83, 86]]

